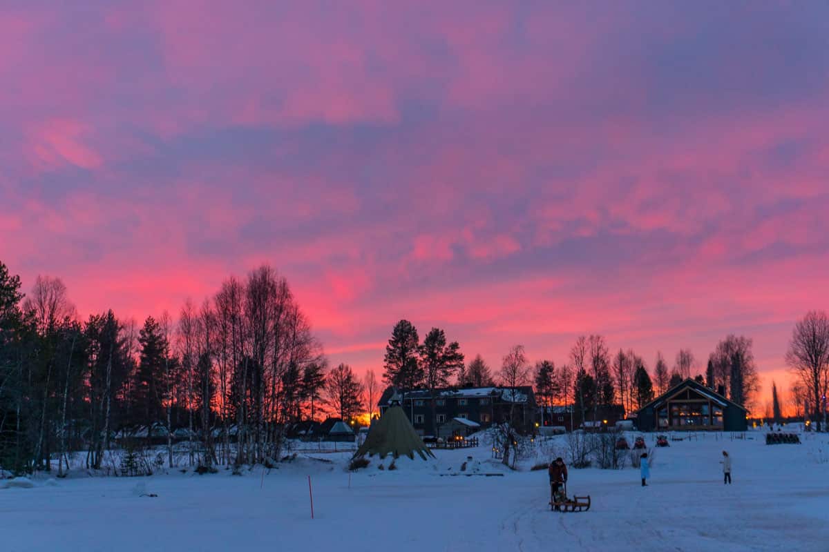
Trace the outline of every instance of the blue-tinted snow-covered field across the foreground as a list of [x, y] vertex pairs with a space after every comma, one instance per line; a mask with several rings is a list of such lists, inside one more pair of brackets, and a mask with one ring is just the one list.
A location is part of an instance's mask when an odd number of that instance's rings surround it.
[[[395, 471], [375, 460], [351, 476], [347, 453], [301, 453], [264, 478], [257, 467], [242, 477], [38, 479], [0, 490], [0, 550], [829, 550], [829, 463], [819, 461], [829, 436], [774, 446], [747, 437], [657, 449], [648, 487], [634, 468], [570, 470], [569, 494], [592, 497], [582, 513], [550, 511], [532, 459], [507, 471], [484, 446], [401, 459]], [[139, 496], [148, 493], [158, 497]]]

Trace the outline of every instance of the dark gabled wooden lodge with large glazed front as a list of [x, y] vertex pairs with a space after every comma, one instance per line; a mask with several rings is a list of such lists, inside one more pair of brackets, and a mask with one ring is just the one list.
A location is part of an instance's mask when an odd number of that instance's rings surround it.
[[640, 431], [748, 429], [746, 410], [699, 382], [686, 379], [643, 406], [637, 413]]

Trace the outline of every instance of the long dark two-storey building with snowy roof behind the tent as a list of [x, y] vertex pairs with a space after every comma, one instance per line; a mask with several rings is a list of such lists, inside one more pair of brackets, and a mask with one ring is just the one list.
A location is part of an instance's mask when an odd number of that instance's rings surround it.
[[[523, 434], [531, 433], [536, 426], [536, 394], [531, 386], [511, 387], [447, 387], [436, 389], [433, 397], [428, 390], [397, 390], [403, 397], [402, 404], [414, 430], [421, 436], [437, 436], [440, 426], [451, 423], [453, 418], [472, 420], [482, 430], [493, 424], [510, 421]], [[377, 406], [381, 415], [389, 408], [395, 393], [394, 387], [383, 392]], [[434, 420], [432, 416], [434, 401]]]

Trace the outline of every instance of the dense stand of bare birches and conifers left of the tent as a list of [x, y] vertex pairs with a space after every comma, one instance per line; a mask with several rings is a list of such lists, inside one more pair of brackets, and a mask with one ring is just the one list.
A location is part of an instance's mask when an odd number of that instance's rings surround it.
[[[100, 469], [114, 439], [187, 441], [187, 463], [278, 458], [290, 422], [348, 419], [377, 394], [373, 374], [331, 369], [288, 281], [260, 266], [177, 320], [140, 328], [112, 310], [84, 321], [63, 282], [38, 276], [24, 294], [0, 262], [0, 468], [58, 473], [70, 453]], [[376, 401], [376, 397], [371, 398]], [[232, 446], [231, 446], [232, 443]]]

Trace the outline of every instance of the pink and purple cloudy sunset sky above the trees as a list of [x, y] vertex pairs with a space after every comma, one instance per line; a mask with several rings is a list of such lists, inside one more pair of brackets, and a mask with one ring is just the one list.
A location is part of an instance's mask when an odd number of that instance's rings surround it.
[[829, 309], [819, 2], [12, 1], [0, 74], [0, 260], [82, 314], [269, 262], [360, 370], [734, 333], [767, 395]]

